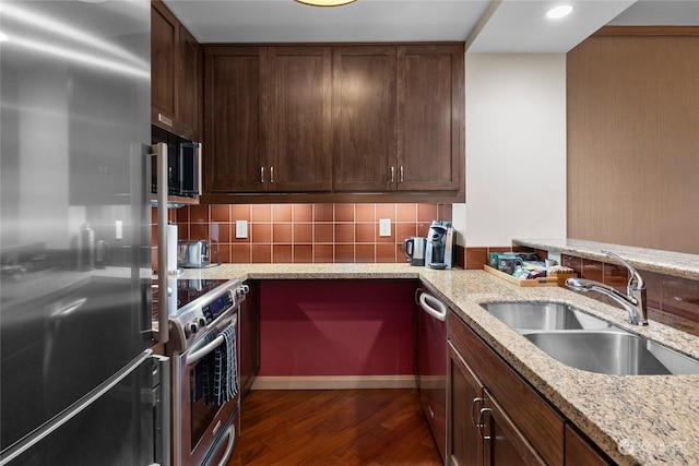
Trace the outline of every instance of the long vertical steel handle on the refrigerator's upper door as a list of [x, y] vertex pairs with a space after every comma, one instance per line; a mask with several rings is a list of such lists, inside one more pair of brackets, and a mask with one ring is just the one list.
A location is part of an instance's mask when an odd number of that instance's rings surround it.
[[157, 162], [157, 286], [158, 312], [157, 342], [166, 344], [170, 339], [167, 322], [167, 144], [159, 142], [151, 146]]

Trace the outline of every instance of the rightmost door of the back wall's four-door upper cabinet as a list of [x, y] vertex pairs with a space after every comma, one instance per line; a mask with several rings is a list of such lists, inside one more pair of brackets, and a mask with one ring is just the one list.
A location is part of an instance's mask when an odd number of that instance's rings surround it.
[[399, 190], [461, 188], [463, 55], [462, 45], [398, 48]]

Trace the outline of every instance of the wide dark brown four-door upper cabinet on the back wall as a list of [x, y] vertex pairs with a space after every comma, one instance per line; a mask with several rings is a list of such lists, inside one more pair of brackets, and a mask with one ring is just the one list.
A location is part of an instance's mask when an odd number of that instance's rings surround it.
[[204, 50], [202, 202], [463, 202], [463, 45]]

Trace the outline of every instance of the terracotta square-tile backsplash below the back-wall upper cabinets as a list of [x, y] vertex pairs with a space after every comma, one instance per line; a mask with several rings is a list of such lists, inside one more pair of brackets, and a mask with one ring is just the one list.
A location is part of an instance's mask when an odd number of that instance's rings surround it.
[[[212, 262], [395, 263], [405, 261], [405, 238], [427, 236], [451, 211], [428, 203], [213, 204], [173, 210], [169, 220], [179, 239], [208, 240]], [[388, 237], [379, 236], [382, 218], [391, 220]], [[247, 238], [236, 238], [236, 220], [247, 222]]]

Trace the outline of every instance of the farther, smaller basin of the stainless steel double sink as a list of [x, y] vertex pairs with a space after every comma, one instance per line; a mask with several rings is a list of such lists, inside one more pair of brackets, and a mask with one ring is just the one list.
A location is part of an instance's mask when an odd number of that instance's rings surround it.
[[600, 318], [559, 302], [490, 302], [481, 306], [520, 333], [616, 328]]

